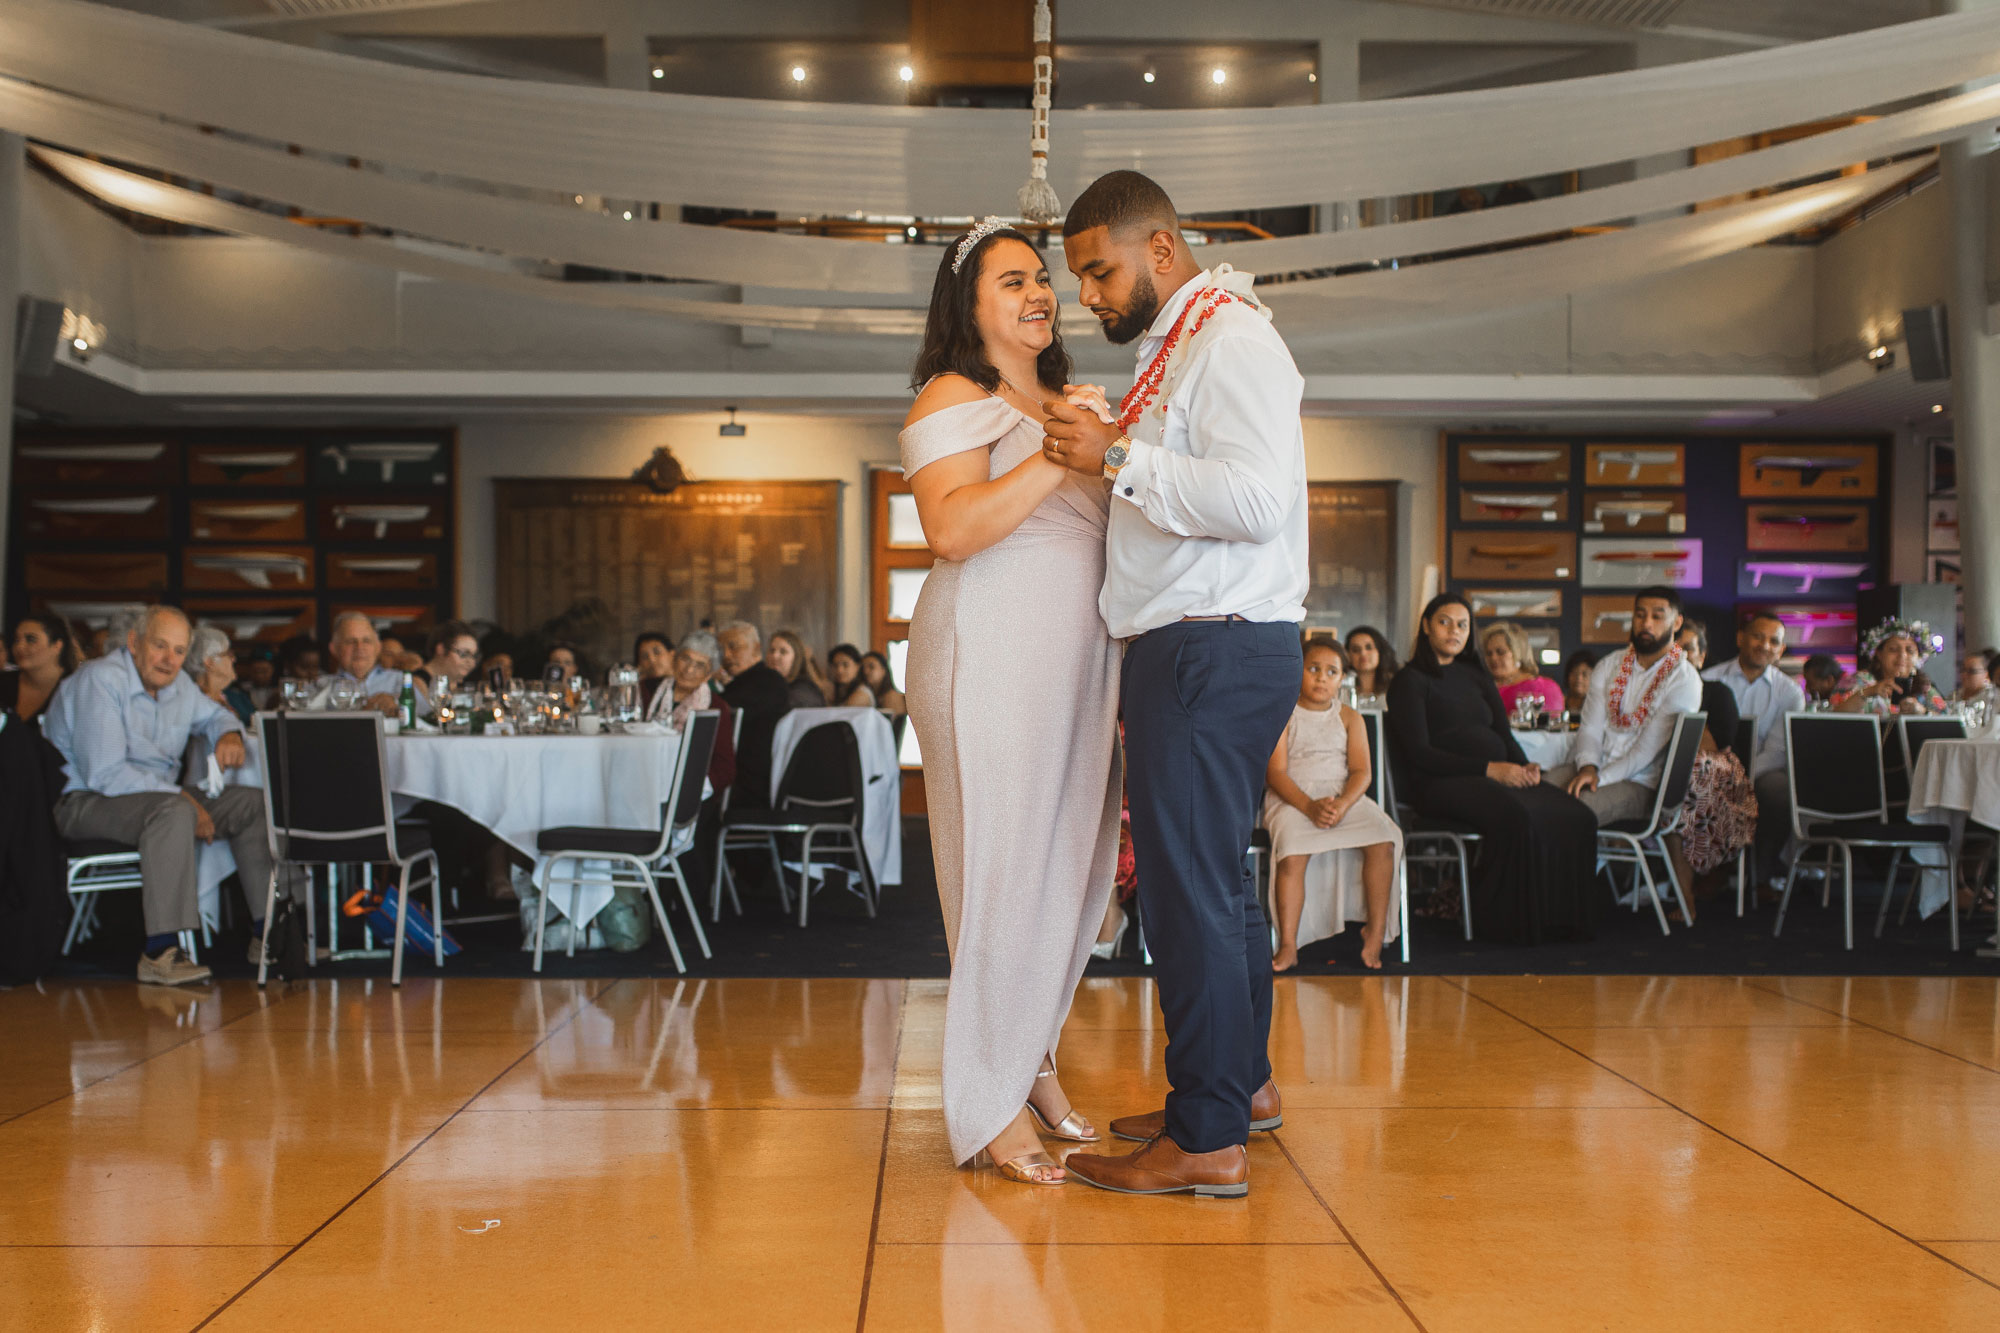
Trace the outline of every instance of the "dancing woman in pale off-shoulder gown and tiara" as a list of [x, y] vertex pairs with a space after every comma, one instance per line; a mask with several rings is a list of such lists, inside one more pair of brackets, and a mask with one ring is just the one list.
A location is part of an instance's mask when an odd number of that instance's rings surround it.
[[1118, 859], [1118, 644], [1098, 614], [1110, 496], [1042, 456], [1042, 404], [1070, 378], [1056, 304], [1022, 232], [966, 232], [938, 264], [902, 430], [938, 556], [904, 691], [952, 949], [944, 1123], [954, 1161], [986, 1153], [1028, 1185], [1064, 1179], [1038, 1129], [1098, 1141], [1054, 1053]]

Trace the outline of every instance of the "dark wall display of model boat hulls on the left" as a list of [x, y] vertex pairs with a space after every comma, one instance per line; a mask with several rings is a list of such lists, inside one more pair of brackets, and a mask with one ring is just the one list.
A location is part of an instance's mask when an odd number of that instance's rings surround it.
[[324, 636], [336, 598], [456, 610], [450, 430], [22, 430], [8, 604], [80, 630], [166, 600], [240, 638]]

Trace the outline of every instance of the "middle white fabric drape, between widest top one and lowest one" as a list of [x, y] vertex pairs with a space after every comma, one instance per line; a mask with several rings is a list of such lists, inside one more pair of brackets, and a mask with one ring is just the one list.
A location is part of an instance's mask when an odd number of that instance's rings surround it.
[[[1778, 148], [1512, 208], [1362, 230], [1248, 240], [1202, 250], [1248, 272], [1334, 268], [1502, 244], [1802, 180], [1928, 146], [2000, 116], [2000, 86], [1968, 92]], [[776, 236], [682, 222], [624, 222], [596, 210], [356, 170], [204, 134], [48, 88], [0, 78], [0, 128], [142, 162], [320, 216], [538, 260], [710, 282], [928, 296], [938, 250]], [[1058, 266], [1060, 268], [1060, 266]], [[1074, 290], [1068, 272], [1058, 288]]]

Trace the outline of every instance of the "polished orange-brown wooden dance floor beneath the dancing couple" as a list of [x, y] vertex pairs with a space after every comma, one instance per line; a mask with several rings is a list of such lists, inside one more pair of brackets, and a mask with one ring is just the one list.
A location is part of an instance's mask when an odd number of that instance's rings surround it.
[[[942, 983], [0, 995], [0, 1327], [1992, 1329], [2000, 981], [1280, 981], [1248, 1201], [946, 1161]], [[1064, 1079], [1162, 1091], [1146, 981]]]

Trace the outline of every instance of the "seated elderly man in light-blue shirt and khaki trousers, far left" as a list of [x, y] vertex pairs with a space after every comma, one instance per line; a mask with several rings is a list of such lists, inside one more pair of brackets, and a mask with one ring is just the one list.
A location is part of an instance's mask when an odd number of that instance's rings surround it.
[[[146, 911], [138, 979], [166, 987], [208, 981], [208, 969], [176, 945], [180, 931], [202, 923], [196, 839], [228, 839], [252, 913], [262, 911], [272, 873], [264, 793], [226, 787], [210, 799], [176, 785], [190, 737], [206, 739], [224, 769], [246, 757], [242, 723], [182, 677], [188, 636], [180, 610], [152, 606], [126, 648], [78, 669], [48, 721], [66, 779], [56, 829], [66, 839], [138, 847]], [[254, 921], [252, 961], [262, 937], [264, 923]]]

